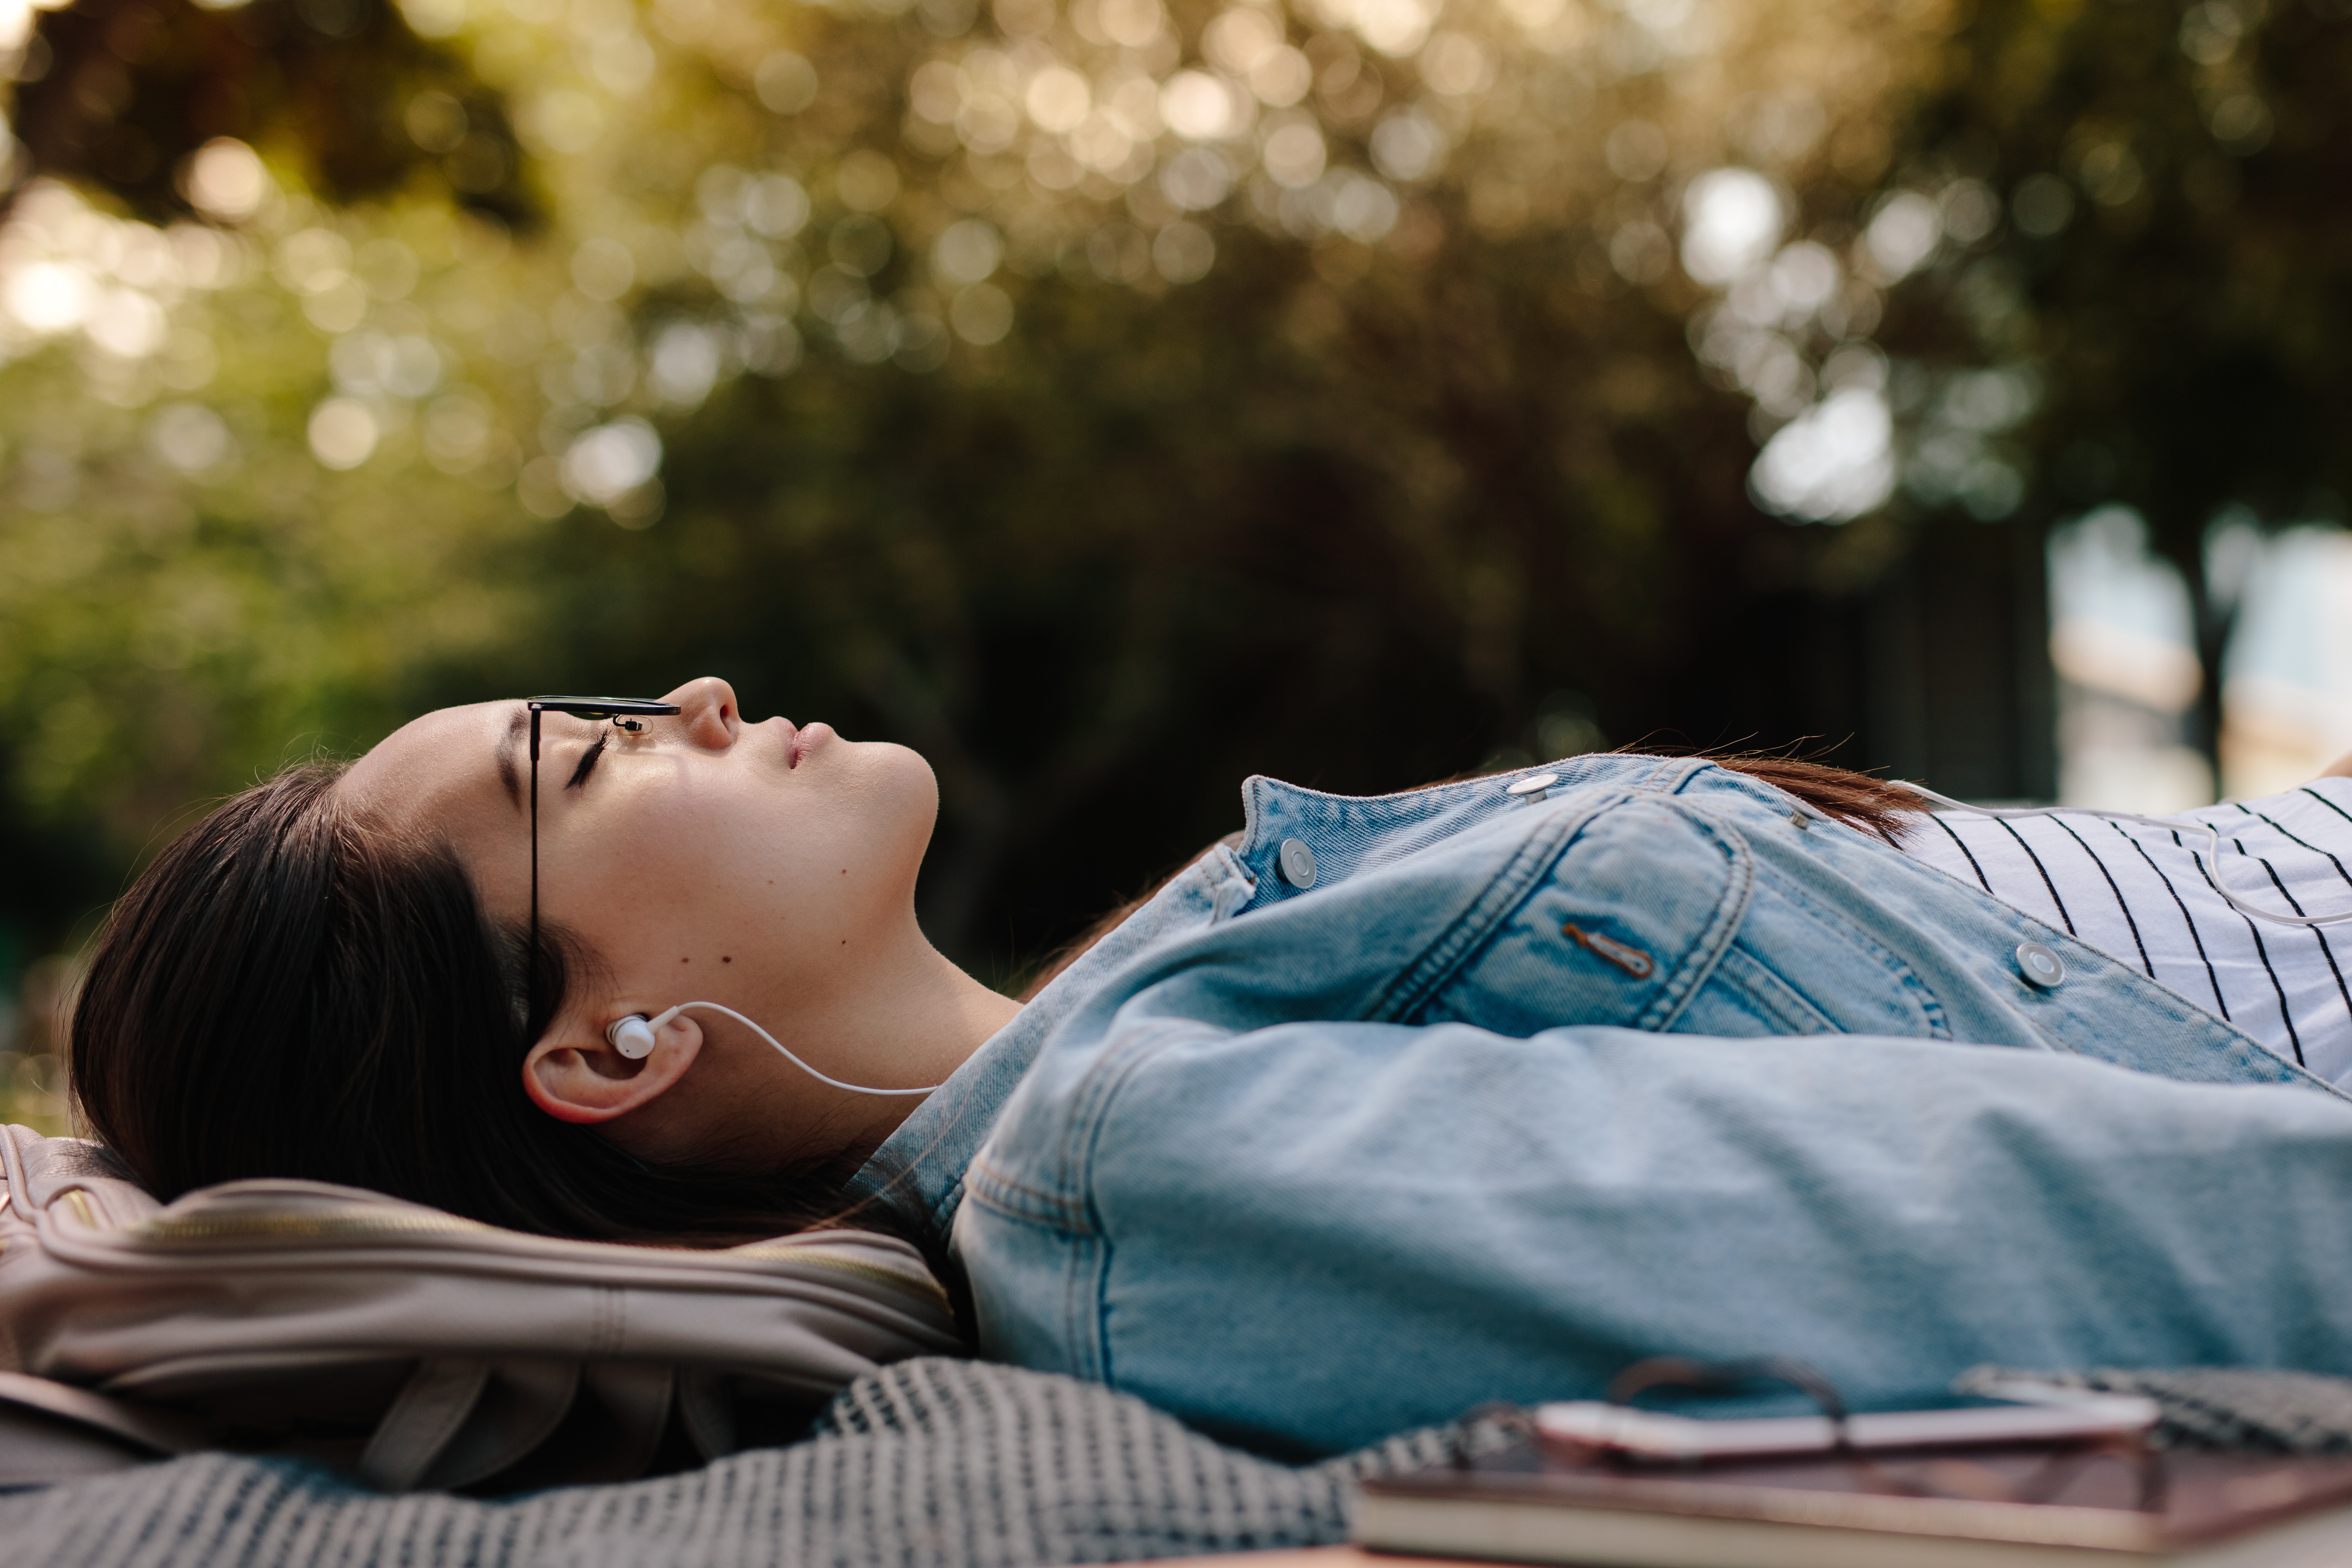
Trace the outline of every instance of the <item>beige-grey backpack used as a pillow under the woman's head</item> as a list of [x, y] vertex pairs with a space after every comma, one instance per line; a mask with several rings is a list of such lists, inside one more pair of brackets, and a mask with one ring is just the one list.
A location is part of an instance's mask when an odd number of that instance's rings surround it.
[[296, 1180], [158, 1204], [99, 1145], [0, 1128], [0, 1488], [198, 1448], [386, 1490], [626, 1481], [960, 1349], [894, 1237], [560, 1241]]

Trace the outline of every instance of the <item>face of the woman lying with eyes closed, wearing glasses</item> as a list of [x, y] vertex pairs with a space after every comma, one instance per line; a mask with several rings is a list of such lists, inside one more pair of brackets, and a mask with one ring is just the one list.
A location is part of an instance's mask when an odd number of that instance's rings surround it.
[[[781, 1020], [870, 983], [863, 959], [913, 931], [938, 811], [929, 764], [826, 724], [746, 724], [715, 677], [666, 701], [680, 712], [635, 736], [541, 715], [539, 917], [604, 971], [600, 994], [579, 1001], [621, 1016], [710, 999]], [[487, 912], [527, 919], [520, 701], [428, 712], [343, 788], [362, 811], [454, 842]]]

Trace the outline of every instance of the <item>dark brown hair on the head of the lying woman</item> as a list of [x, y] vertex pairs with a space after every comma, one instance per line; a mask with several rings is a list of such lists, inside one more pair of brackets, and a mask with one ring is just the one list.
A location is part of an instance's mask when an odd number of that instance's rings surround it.
[[233, 797], [106, 922], [73, 1088], [155, 1197], [278, 1175], [555, 1237], [898, 1229], [811, 1173], [644, 1166], [532, 1105], [522, 1060], [593, 954], [548, 926], [524, 973], [454, 849], [360, 820], [341, 773], [313, 762]]

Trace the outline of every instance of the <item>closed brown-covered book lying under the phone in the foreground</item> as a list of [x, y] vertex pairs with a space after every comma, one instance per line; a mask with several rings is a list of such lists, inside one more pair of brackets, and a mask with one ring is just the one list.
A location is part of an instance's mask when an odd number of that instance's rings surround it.
[[1578, 1568], [2352, 1566], [2352, 1460], [2133, 1448], [2112, 1410], [2079, 1436], [1980, 1420], [1919, 1443], [1882, 1420], [1891, 1441], [1762, 1453], [1740, 1448], [1773, 1422], [1689, 1422], [1750, 1427], [1715, 1458], [1562, 1439], [1576, 1420], [1550, 1413], [1501, 1453], [1364, 1481], [1357, 1544]]

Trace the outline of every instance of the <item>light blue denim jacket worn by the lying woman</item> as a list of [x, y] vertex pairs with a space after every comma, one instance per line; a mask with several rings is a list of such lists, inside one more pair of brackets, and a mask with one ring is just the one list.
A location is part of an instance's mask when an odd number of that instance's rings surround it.
[[858, 1185], [953, 1227], [983, 1354], [1277, 1453], [1653, 1354], [1856, 1408], [1980, 1361], [2352, 1373], [2352, 1103], [1769, 785], [1550, 771], [1251, 778], [1237, 846], [908, 1119]]

